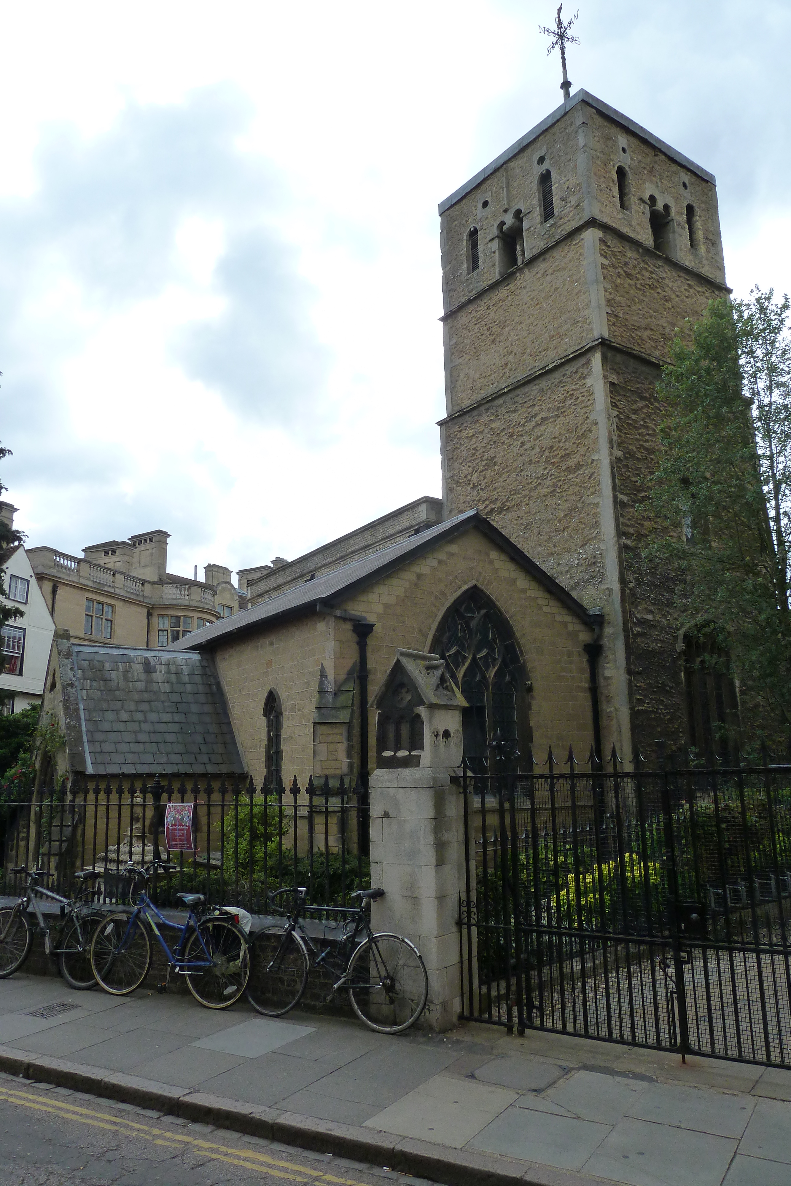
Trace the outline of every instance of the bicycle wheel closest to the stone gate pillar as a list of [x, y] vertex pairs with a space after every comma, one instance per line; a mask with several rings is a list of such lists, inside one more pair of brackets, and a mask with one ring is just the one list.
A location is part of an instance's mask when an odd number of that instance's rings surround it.
[[426, 1008], [428, 973], [417, 948], [400, 935], [374, 935], [349, 961], [349, 1000], [370, 1029], [398, 1034]]

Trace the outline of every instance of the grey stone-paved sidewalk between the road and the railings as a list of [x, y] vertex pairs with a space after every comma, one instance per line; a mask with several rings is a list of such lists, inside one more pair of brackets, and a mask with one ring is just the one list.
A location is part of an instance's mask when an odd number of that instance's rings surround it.
[[449, 1182], [791, 1186], [791, 1072], [0, 981], [0, 1070]]

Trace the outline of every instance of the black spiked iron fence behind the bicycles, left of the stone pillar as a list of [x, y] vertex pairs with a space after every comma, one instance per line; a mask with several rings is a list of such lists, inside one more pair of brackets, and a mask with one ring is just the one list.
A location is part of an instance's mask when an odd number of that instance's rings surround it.
[[[168, 803], [192, 804], [197, 848], [165, 847]], [[370, 885], [368, 791], [343, 778], [302, 789], [264, 780], [180, 783], [130, 778], [74, 779], [23, 803], [0, 804], [2, 879], [0, 893], [17, 893], [15, 866], [45, 868], [59, 893], [70, 894], [74, 874], [101, 873], [98, 895], [122, 903], [128, 895], [128, 862], [161, 859], [178, 867], [154, 876], [151, 894], [177, 905], [183, 891], [205, 893], [221, 905], [266, 911], [267, 892], [294, 884], [308, 887], [317, 905], [345, 905], [349, 894]]]

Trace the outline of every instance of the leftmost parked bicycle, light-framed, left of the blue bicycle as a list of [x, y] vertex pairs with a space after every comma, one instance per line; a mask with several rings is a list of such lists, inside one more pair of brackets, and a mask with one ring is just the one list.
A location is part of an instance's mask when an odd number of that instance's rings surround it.
[[[102, 911], [94, 905], [96, 880], [101, 876], [94, 869], [75, 873], [77, 881], [83, 882], [83, 890], [76, 898], [64, 898], [53, 890], [42, 885], [46, 878], [55, 876], [45, 869], [27, 869], [18, 865], [12, 873], [24, 873], [27, 876], [25, 892], [13, 906], [0, 910], [0, 980], [13, 976], [27, 959], [33, 945], [33, 935], [44, 936], [44, 950], [57, 956], [60, 975], [71, 988], [93, 988], [96, 983], [90, 965], [90, 944], [94, 930]], [[39, 895], [56, 901], [60, 907], [55, 920], [44, 919]], [[30, 910], [36, 916], [36, 925], [30, 919]]]

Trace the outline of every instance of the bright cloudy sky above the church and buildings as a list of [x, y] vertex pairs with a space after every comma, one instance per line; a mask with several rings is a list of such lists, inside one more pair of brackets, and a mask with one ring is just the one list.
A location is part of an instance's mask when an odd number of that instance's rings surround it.
[[[573, 11], [567, 4], [569, 12]], [[0, 473], [31, 544], [293, 557], [440, 493], [436, 204], [560, 101], [553, 0], [0, 2]], [[580, 0], [585, 87], [791, 288], [791, 0]]]

